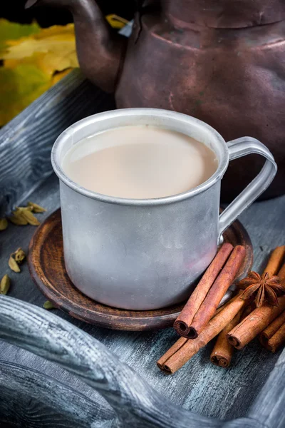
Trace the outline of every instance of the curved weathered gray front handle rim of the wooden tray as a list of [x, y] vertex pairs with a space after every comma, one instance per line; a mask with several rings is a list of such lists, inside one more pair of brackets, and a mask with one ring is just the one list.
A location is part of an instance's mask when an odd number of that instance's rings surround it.
[[[114, 427], [264, 428], [266, 422], [269, 428], [281, 428], [280, 423], [284, 421], [282, 414], [285, 389], [278, 389], [279, 402], [272, 402], [271, 395], [274, 396], [275, 393], [272, 379], [264, 385], [249, 418], [228, 422], [206, 418], [168, 402], [128, 365], [120, 362], [103, 344], [86, 332], [51, 312], [24, 304], [12, 297], [0, 296], [0, 338], [56, 362], [100, 392], [115, 410]], [[276, 367], [282, 377], [282, 374], [285, 374], [284, 354]], [[22, 377], [21, 383], [26, 386], [25, 377]], [[48, 388], [46, 389], [43, 382], [40, 384], [42, 392], [39, 397], [44, 402]], [[54, 396], [58, 395], [58, 391], [55, 387], [49, 389], [48, 394], [56, 401]], [[257, 410], [261, 401], [266, 407], [270, 405], [270, 416], [274, 425], [268, 424], [268, 412]], [[84, 407], [81, 408], [79, 400], [77, 404], [79, 412], [80, 409], [83, 412]], [[76, 416], [80, 419], [80, 414]]]

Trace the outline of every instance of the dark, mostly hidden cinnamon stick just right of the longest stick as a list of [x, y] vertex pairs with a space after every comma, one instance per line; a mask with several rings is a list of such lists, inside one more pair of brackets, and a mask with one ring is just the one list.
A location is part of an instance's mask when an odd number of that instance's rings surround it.
[[210, 361], [219, 367], [229, 367], [232, 361], [232, 355], [234, 354], [234, 347], [227, 340], [227, 334], [230, 332], [236, 325], [239, 324], [241, 317], [244, 316], [244, 310], [239, 310], [237, 315], [229, 321], [229, 324], [224, 327], [222, 332], [219, 333], [217, 342], [214, 345], [212, 353], [209, 357]]

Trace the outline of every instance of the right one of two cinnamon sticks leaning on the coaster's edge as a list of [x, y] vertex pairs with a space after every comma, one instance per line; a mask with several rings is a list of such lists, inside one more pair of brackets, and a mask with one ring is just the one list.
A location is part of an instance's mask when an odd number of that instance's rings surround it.
[[[224, 297], [225, 292], [227, 292], [229, 286], [232, 285], [232, 282], [234, 282], [234, 279], [239, 272], [239, 268], [244, 262], [245, 254], [246, 251], [242, 245], [237, 245], [237, 247], [232, 250], [232, 253], [229, 255], [227, 262], [222, 268], [222, 271], [217, 276], [217, 279], [214, 280], [212, 287], [209, 287], [209, 291], [207, 292], [207, 295], [204, 298], [202, 304], [199, 306], [199, 309], [197, 310], [189, 326], [189, 331], [187, 334], [185, 334], [185, 330], [183, 330], [183, 328], [181, 329], [181, 320], [183, 321], [185, 316], [182, 310], [178, 325], [177, 322], [175, 322], [175, 330], [180, 335], [190, 339], [195, 339], [202, 332], [204, 327], [206, 327], [207, 322], [209, 322], [209, 320], [214, 315], [214, 312], [221, 302], [222, 297]], [[199, 287], [199, 285], [197, 285], [197, 287]], [[185, 310], [185, 313], [187, 315], [187, 310]]]

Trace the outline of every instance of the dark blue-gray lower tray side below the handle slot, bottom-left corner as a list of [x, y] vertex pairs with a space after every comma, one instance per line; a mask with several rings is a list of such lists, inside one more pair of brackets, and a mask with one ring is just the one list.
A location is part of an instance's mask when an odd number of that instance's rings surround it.
[[98, 405], [71, 387], [36, 370], [0, 361], [0, 426], [110, 427], [116, 422], [108, 404]]

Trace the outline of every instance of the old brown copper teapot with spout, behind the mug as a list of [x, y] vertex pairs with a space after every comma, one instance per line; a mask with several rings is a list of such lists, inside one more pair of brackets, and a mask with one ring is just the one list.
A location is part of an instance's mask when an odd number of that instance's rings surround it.
[[[95, 0], [28, 0], [64, 6], [76, 29], [83, 73], [115, 93], [118, 108], [187, 113], [226, 141], [266, 144], [279, 166], [264, 195], [285, 193], [284, 0], [140, 1], [130, 39], [113, 34]], [[223, 180], [231, 200], [257, 175], [257, 155], [234, 161]]]

